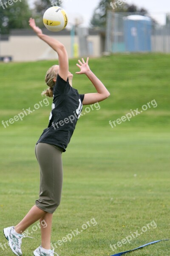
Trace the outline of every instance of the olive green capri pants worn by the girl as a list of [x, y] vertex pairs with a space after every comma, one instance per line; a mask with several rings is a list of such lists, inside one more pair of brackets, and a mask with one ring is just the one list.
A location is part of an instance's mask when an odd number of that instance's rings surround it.
[[54, 145], [38, 143], [35, 155], [40, 166], [40, 198], [35, 205], [53, 213], [60, 204], [62, 193], [62, 151]]

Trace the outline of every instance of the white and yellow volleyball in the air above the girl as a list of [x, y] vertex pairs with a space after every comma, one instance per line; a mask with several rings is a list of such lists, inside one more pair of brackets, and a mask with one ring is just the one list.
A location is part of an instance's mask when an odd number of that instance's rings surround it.
[[68, 24], [68, 16], [65, 10], [59, 6], [48, 8], [43, 15], [43, 23], [45, 27], [53, 32], [65, 29]]

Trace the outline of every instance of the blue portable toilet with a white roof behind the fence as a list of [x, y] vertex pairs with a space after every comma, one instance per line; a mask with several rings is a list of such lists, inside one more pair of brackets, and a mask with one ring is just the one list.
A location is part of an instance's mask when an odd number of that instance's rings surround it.
[[128, 52], [151, 51], [150, 17], [142, 15], [130, 15], [124, 17], [125, 49]]

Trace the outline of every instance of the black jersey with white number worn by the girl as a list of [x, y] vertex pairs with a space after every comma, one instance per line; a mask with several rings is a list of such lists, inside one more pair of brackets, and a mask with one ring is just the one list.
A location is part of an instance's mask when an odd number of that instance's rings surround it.
[[57, 145], [65, 152], [80, 117], [84, 96], [58, 74], [48, 128], [43, 130], [37, 143]]

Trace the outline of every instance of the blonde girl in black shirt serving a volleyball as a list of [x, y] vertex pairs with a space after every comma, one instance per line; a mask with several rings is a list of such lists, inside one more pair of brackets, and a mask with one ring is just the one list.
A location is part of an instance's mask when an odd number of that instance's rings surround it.
[[[46, 128], [35, 145], [35, 155], [40, 165], [40, 197], [27, 215], [15, 227], [4, 228], [4, 235], [14, 254], [22, 255], [21, 243], [26, 237], [22, 234], [31, 224], [40, 220], [41, 245], [34, 250], [34, 256], [54, 256], [51, 250], [51, 225], [54, 211], [60, 204], [62, 192], [62, 152], [66, 151], [74, 132], [82, 105], [101, 102], [110, 96], [102, 82], [94, 75], [85, 62], [79, 60], [76, 74], [85, 74], [96, 88], [96, 93], [79, 94], [72, 87], [73, 74], [68, 71], [68, 54], [63, 44], [42, 33], [30, 18], [29, 25], [37, 36], [47, 43], [59, 58], [59, 66], [52, 66], [46, 73], [48, 89], [42, 94], [53, 97], [48, 128]], [[45, 223], [46, 227], [42, 224]], [[57, 253], [55, 253], [57, 254]]]

